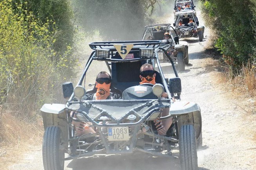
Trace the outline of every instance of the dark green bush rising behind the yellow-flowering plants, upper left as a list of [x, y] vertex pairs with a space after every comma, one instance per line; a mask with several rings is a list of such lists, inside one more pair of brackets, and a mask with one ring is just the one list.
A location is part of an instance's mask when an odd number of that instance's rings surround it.
[[13, 0], [12, 2], [13, 9], [16, 9], [15, 3], [26, 4], [22, 5], [22, 9], [33, 12], [42, 23], [47, 23], [48, 20], [54, 21], [54, 25], [49, 23], [49, 31], [58, 27], [55, 33], [55, 51], [64, 54], [67, 45], [73, 46], [74, 13], [70, 0]]

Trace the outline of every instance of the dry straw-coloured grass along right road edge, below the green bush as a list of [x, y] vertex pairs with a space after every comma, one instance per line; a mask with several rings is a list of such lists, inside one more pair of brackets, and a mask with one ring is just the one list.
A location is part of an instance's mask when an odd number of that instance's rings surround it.
[[202, 66], [215, 71], [215, 86], [227, 91], [227, 97], [238, 105], [245, 125], [243, 130], [248, 139], [256, 143], [256, 68], [250, 64], [243, 65], [240, 73], [234, 75], [227, 65], [212, 58], [206, 58]]

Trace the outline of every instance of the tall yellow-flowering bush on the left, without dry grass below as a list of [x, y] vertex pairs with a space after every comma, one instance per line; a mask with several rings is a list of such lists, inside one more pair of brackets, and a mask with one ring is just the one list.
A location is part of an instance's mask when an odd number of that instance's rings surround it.
[[63, 72], [75, 61], [69, 58], [71, 47], [61, 56], [54, 50], [56, 23], [42, 22], [24, 5], [0, 2], [0, 103], [27, 118], [56, 99]]

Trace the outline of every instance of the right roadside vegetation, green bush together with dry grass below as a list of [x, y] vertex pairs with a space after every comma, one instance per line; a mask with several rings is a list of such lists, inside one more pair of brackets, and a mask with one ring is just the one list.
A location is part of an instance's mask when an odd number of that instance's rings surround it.
[[256, 1], [201, 0], [211, 46], [225, 63], [225, 81], [247, 97], [256, 96]]

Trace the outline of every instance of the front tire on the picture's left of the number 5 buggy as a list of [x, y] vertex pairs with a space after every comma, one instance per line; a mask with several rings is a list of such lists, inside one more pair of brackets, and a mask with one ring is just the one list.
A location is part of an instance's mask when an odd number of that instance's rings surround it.
[[64, 170], [64, 148], [59, 127], [47, 127], [43, 138], [43, 163], [45, 170]]

